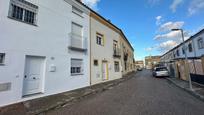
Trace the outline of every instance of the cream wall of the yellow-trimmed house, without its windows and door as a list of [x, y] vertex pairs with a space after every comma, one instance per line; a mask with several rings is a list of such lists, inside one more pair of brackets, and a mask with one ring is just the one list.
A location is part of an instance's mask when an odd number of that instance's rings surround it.
[[[104, 35], [105, 45], [100, 46], [96, 43], [96, 33]], [[113, 58], [113, 40], [118, 41], [120, 47], [119, 33], [100, 23], [91, 17], [91, 84], [106, 82], [102, 80], [102, 61], [107, 60], [109, 64], [109, 79], [115, 80], [122, 77], [122, 73], [115, 72], [114, 61], [121, 65], [120, 58]], [[94, 60], [98, 60], [99, 65], [94, 66]], [[121, 70], [121, 68], [120, 68]]]

